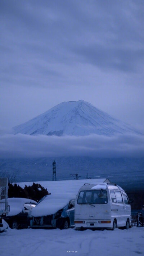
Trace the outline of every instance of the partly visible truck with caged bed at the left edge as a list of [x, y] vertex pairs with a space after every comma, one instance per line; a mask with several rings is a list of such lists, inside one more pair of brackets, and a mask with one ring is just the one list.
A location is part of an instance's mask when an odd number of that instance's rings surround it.
[[3, 217], [9, 213], [8, 178], [0, 178], [0, 231], [3, 231]]

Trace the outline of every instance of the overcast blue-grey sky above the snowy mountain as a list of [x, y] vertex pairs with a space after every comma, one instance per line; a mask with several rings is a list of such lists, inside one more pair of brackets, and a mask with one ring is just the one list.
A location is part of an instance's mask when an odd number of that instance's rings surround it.
[[143, 0], [0, 0], [0, 125], [86, 100], [144, 131]]

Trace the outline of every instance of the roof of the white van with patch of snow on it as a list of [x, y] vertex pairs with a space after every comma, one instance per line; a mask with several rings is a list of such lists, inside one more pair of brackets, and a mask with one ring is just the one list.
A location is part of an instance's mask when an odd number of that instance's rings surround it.
[[113, 184], [113, 183], [95, 183], [95, 184], [88, 184], [85, 183], [80, 190], [90, 190], [90, 189], [118, 189], [124, 191], [120, 186]]

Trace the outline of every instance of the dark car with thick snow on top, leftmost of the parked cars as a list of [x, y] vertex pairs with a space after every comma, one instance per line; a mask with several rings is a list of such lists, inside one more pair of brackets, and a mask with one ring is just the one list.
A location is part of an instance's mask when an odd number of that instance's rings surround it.
[[12, 229], [28, 228], [28, 226], [30, 226], [28, 212], [32, 210], [36, 204], [36, 201], [28, 198], [8, 198], [10, 211], [3, 219]]

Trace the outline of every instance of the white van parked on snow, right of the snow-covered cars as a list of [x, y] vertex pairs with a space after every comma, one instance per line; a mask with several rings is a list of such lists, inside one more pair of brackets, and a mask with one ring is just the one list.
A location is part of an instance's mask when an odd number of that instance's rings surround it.
[[116, 184], [84, 184], [75, 201], [75, 228], [115, 229], [131, 226], [131, 206], [126, 192]]

